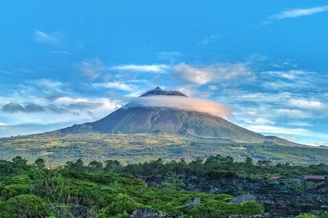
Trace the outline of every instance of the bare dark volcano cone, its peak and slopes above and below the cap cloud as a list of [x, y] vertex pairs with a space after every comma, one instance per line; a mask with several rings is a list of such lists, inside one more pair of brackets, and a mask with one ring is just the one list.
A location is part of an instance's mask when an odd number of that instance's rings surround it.
[[[139, 98], [149, 96], [189, 97], [180, 91], [162, 90], [156, 87]], [[73, 125], [65, 129], [42, 133], [48, 136], [61, 136], [77, 133], [171, 133], [189, 135], [203, 139], [224, 139], [237, 142], [274, 142], [284, 145], [298, 145], [277, 136], [262, 134], [239, 127], [226, 119], [205, 112], [175, 108], [140, 107], [128, 103], [106, 117], [91, 123]]]

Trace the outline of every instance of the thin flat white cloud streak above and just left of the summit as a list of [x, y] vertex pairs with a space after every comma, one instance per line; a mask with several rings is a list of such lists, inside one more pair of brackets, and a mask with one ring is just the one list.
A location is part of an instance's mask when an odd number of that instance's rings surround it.
[[112, 66], [112, 70], [127, 70], [127, 71], [136, 71], [136, 72], [154, 72], [154, 73], [163, 73], [165, 70], [169, 69], [169, 65], [119, 65]]

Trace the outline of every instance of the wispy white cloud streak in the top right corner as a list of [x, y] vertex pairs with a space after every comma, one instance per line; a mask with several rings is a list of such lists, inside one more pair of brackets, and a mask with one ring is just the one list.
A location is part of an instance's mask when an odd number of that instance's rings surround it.
[[288, 11], [282, 11], [276, 15], [272, 15], [269, 19], [281, 20], [286, 18], [297, 18], [301, 16], [308, 16], [317, 14], [320, 12], [328, 11], [328, 5], [321, 7], [305, 8], [305, 9], [291, 9]]

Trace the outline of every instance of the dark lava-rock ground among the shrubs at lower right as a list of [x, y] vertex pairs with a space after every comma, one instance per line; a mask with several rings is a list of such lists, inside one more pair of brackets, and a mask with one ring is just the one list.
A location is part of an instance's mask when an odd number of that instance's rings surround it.
[[[162, 176], [140, 176], [145, 182], [159, 187]], [[184, 190], [194, 190], [212, 194], [230, 194], [238, 196], [250, 193], [256, 196], [256, 201], [265, 208], [266, 217], [294, 217], [300, 213], [321, 214], [328, 210], [328, 183], [317, 186], [304, 184], [301, 191], [294, 191], [290, 185], [271, 183], [267, 180], [250, 179], [239, 176], [222, 178], [205, 178], [198, 176], [183, 176]]]

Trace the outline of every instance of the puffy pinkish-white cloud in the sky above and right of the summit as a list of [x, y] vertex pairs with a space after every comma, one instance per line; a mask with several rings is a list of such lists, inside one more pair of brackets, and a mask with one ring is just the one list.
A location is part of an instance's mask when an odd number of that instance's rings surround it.
[[245, 64], [216, 64], [195, 67], [181, 63], [174, 65], [172, 72], [178, 78], [198, 85], [228, 80], [233, 77], [251, 77], [252, 72]]

